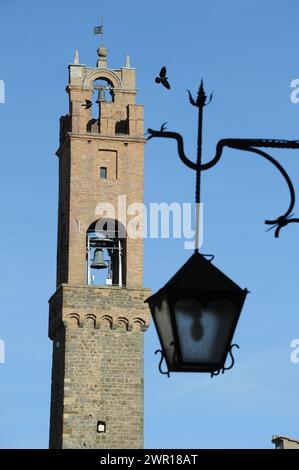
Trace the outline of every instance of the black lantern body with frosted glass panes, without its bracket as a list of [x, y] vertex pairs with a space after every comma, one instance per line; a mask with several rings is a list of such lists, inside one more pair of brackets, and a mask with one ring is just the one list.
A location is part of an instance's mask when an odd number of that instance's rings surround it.
[[207, 255], [194, 253], [146, 300], [169, 372], [213, 374], [225, 368], [247, 292]]

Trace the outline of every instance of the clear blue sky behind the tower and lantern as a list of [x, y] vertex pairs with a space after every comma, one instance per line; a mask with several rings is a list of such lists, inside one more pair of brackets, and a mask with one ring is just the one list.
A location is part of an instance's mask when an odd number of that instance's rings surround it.
[[[146, 127], [168, 128], [196, 149], [196, 113], [186, 88], [214, 90], [204, 121], [204, 158], [224, 137], [299, 138], [296, 0], [1, 0], [0, 447], [47, 447], [51, 342], [47, 301], [55, 290], [59, 117], [67, 112], [67, 65], [94, 66], [92, 27], [105, 17], [109, 66], [126, 53], [138, 73]], [[172, 91], [153, 83], [168, 66]], [[299, 193], [299, 151], [274, 151]], [[145, 199], [193, 201], [194, 175], [172, 142], [146, 146]], [[165, 177], [167, 175], [167, 177]], [[154, 328], [145, 335], [146, 447], [272, 447], [272, 434], [299, 437], [299, 226], [274, 239], [264, 219], [280, 215], [288, 191], [259, 157], [225, 150], [203, 178], [204, 247], [251, 294], [238, 325], [236, 365], [210, 379], [158, 372]], [[296, 207], [299, 215], [299, 200]], [[180, 240], [146, 240], [144, 285], [158, 289], [190, 253]]]

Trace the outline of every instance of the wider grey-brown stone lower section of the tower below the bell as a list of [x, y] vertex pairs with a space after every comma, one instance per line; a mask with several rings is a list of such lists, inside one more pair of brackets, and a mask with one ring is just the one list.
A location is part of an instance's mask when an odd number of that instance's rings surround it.
[[[143, 300], [149, 294], [61, 285], [50, 299], [51, 448], [143, 446]], [[105, 433], [96, 432], [98, 421], [106, 422]]]

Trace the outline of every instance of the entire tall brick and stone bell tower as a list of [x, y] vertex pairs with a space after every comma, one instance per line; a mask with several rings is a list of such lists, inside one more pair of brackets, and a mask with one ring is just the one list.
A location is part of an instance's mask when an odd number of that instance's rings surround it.
[[[50, 448], [143, 447], [143, 239], [128, 236], [126, 206], [143, 203], [143, 106], [134, 68], [69, 65], [69, 114], [60, 119], [57, 289]], [[105, 217], [99, 207], [115, 208]], [[142, 224], [142, 222], [141, 222]], [[138, 227], [140, 222], [138, 222]]]

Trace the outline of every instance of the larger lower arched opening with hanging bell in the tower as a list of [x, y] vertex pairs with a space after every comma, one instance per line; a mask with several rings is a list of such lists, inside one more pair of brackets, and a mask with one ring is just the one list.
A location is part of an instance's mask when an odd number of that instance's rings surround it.
[[87, 285], [126, 285], [126, 230], [113, 219], [93, 222], [86, 234]]

